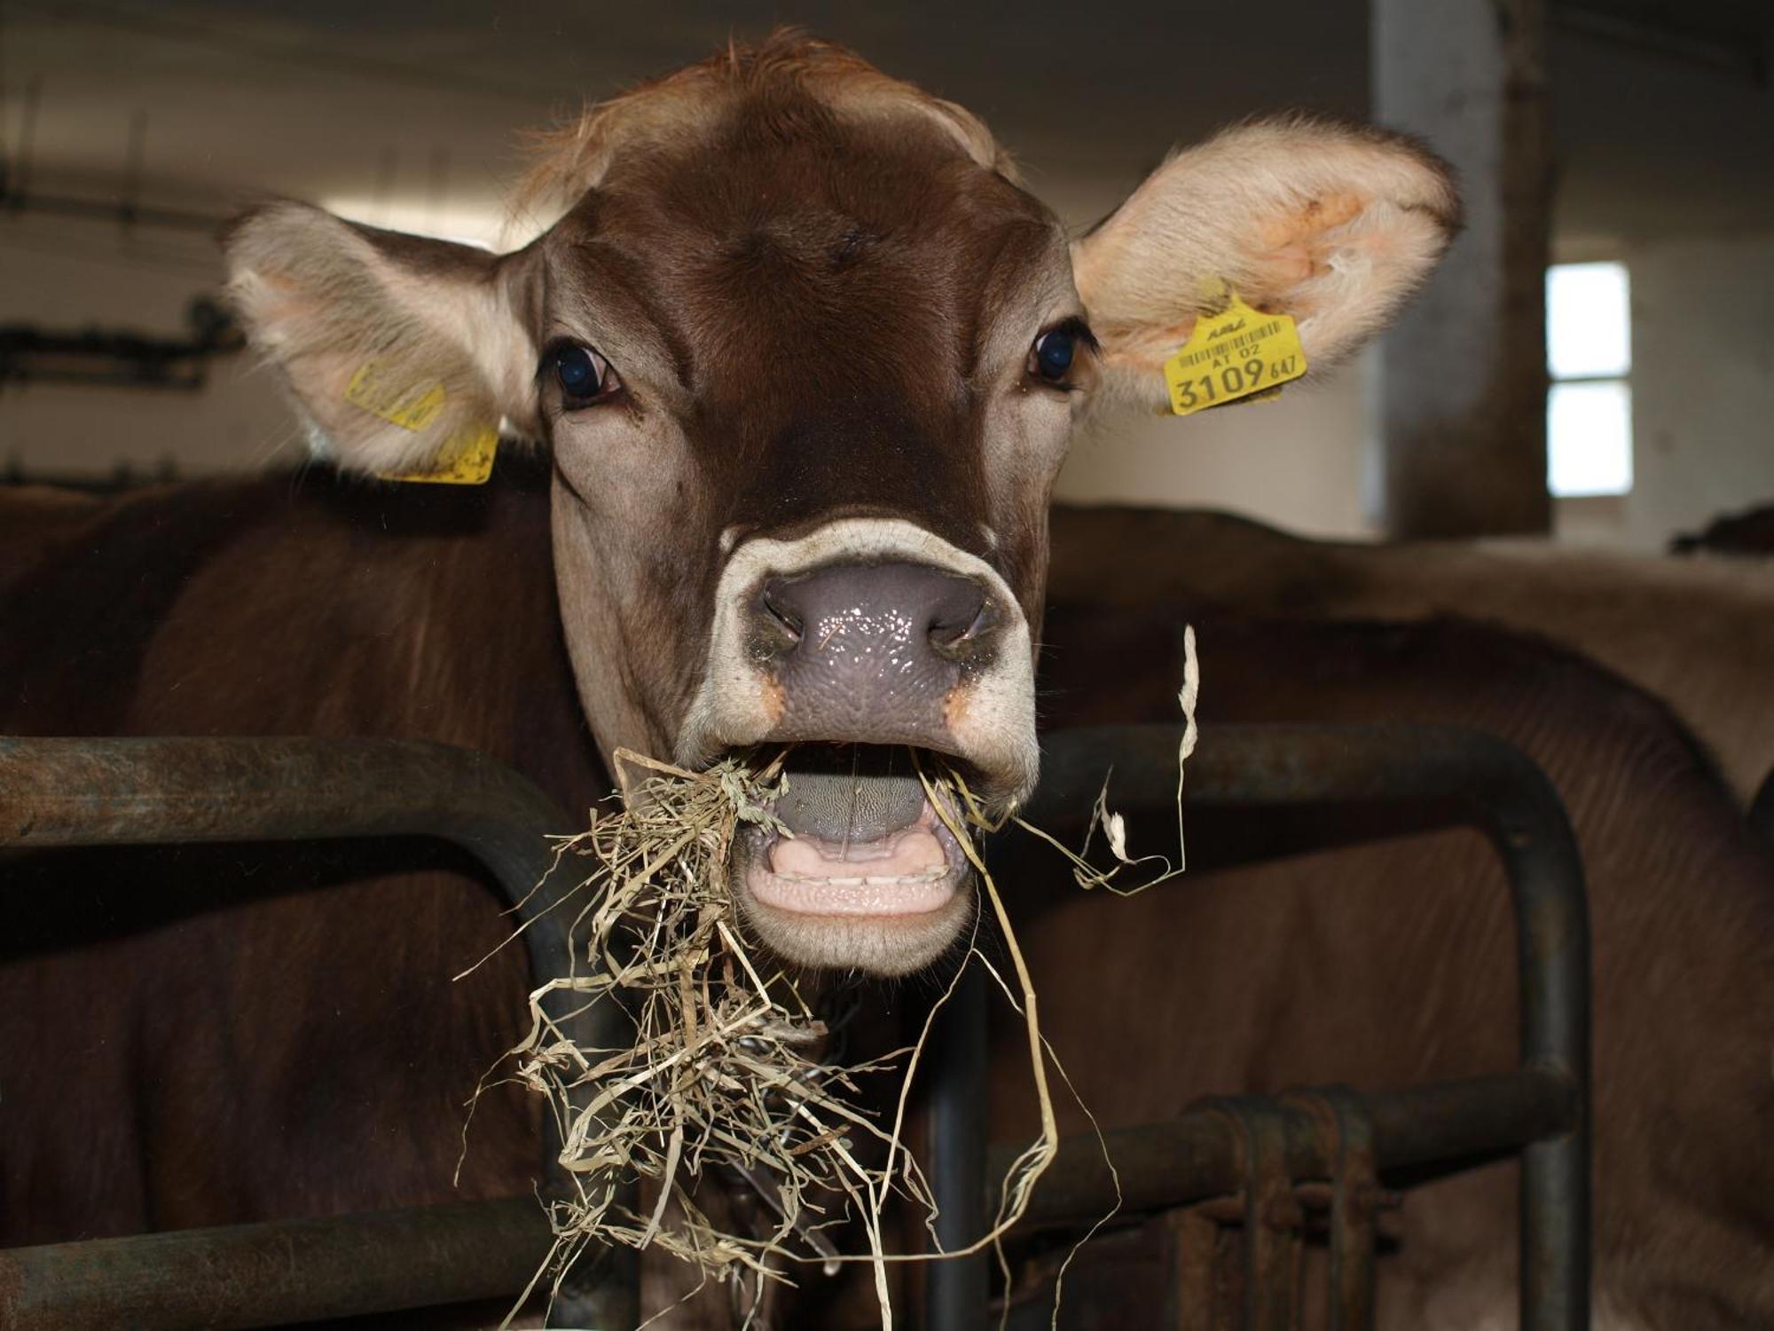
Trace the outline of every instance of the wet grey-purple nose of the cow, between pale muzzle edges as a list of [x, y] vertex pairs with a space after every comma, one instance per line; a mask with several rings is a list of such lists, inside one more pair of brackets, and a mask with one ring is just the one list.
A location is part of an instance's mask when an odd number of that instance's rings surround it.
[[979, 582], [924, 564], [770, 579], [752, 646], [781, 687], [779, 735], [940, 747], [947, 697], [993, 658], [997, 619]]

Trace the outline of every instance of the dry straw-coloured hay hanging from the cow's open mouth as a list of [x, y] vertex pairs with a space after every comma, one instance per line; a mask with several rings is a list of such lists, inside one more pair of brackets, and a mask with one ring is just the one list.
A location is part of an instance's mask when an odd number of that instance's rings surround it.
[[[999, 921], [1013, 964], [1013, 974], [999, 983], [1027, 1022], [1043, 1132], [1006, 1178], [992, 1230], [965, 1251], [995, 1242], [1022, 1216], [1036, 1177], [1057, 1148], [1034, 988], [974, 845], [970, 825], [986, 825], [986, 815], [965, 776], [931, 770], [928, 754], [899, 751], [898, 761], [910, 765], [917, 781], [917, 809], [905, 790], [894, 790], [862, 802], [855, 813], [834, 813], [786, 800], [795, 786], [786, 776], [789, 754], [784, 749], [752, 761], [729, 758], [706, 772], [688, 772], [619, 751], [617, 761], [639, 774], [628, 783], [623, 804], [594, 811], [587, 832], [561, 843], [562, 855], [591, 861], [575, 898], [580, 912], [573, 925], [575, 951], [585, 971], [530, 996], [530, 1033], [513, 1056], [516, 1077], [543, 1095], [555, 1116], [561, 1161], [577, 1194], [550, 1203], [553, 1251], [525, 1290], [525, 1301], [545, 1281], [559, 1288], [593, 1242], [656, 1246], [697, 1265], [704, 1278], [734, 1283], [750, 1278], [754, 1290], [766, 1280], [786, 1278], [797, 1262], [828, 1267], [871, 1262], [882, 1324], [891, 1326], [887, 1262], [924, 1255], [885, 1251], [883, 1212], [896, 1196], [924, 1207], [926, 1214], [935, 1210], [922, 1171], [901, 1139], [930, 1024], [914, 1047], [878, 1063], [821, 1061], [823, 1022], [797, 976], [749, 946], [726, 873], [734, 841], [745, 834], [772, 847], [795, 839], [782, 815], [811, 827], [821, 841], [830, 839], [825, 834], [836, 827], [832, 818], [855, 818], [867, 836], [852, 841], [894, 868], [901, 868], [901, 857], [910, 864], [928, 850], [905, 841], [928, 836], [944, 847], [946, 871], [970, 868], [979, 875]], [[880, 754], [850, 758], [859, 772], [887, 761]], [[832, 761], [830, 756], [807, 761], [802, 767], [807, 784], [816, 786], [811, 777], [820, 763]], [[839, 854], [848, 854], [843, 836], [836, 843]], [[953, 866], [947, 847], [958, 852]], [[791, 870], [795, 864], [789, 857]], [[802, 868], [818, 866], [802, 862]], [[974, 957], [970, 951], [969, 960]], [[621, 1003], [635, 1024], [633, 1044], [624, 1049], [573, 1044], [548, 1015], [550, 994], [562, 990], [578, 1003]], [[937, 1008], [951, 992], [953, 981]], [[891, 1122], [852, 1106], [859, 1079], [885, 1070], [903, 1070]], [[695, 1193], [711, 1168], [768, 1187], [773, 1196], [766, 1200], [781, 1217], [775, 1228], [724, 1230]], [[653, 1182], [656, 1200], [648, 1214], [616, 1203], [619, 1178]], [[846, 1216], [860, 1221], [867, 1253], [832, 1249], [825, 1235]]]

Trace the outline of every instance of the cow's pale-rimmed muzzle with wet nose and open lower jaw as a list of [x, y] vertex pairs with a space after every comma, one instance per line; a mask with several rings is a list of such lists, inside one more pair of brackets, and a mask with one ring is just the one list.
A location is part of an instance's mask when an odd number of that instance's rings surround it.
[[747, 923], [805, 965], [926, 965], [967, 925], [972, 884], [960, 811], [921, 774], [947, 765], [995, 811], [1034, 784], [1015, 596], [983, 561], [889, 520], [752, 541], [720, 596], [679, 760], [793, 745], [775, 807], [788, 832], [747, 827], [734, 845]]

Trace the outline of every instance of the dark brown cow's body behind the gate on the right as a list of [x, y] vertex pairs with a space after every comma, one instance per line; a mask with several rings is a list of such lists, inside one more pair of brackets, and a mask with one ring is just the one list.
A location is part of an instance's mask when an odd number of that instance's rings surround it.
[[[1593, 935], [1595, 1326], [1774, 1326], [1774, 843], [1744, 823], [1669, 708], [1543, 639], [1469, 621], [1056, 602], [1048, 722], [1174, 719], [1187, 621], [1203, 724], [1469, 726], [1552, 777]], [[1114, 795], [1111, 777], [1111, 807]], [[1121, 811], [1134, 854], [1174, 850], [1169, 809]], [[1226, 836], [1185, 822], [1206, 845]], [[1240, 855], [1210, 854], [1228, 850]], [[1043, 1033], [1103, 1127], [1162, 1122], [1213, 1093], [1400, 1088], [1517, 1065], [1506, 882], [1472, 832], [1192, 870], [1130, 898], [1080, 893], [1045, 859], [1027, 845], [1002, 877], [1018, 887]], [[1103, 958], [1084, 983], [1080, 957]], [[1008, 1139], [1034, 1125], [1015, 1035], [992, 1042], [993, 1132]], [[1075, 1104], [1059, 1107], [1066, 1129], [1091, 1130]], [[1380, 1326], [1515, 1326], [1515, 1182], [1513, 1164], [1490, 1164], [1405, 1194], [1385, 1226], [1398, 1244], [1380, 1260]], [[1061, 1324], [1153, 1324], [1160, 1242], [1112, 1242], [1100, 1274], [1086, 1248]], [[1141, 1260], [1144, 1281], [1132, 1280]]]

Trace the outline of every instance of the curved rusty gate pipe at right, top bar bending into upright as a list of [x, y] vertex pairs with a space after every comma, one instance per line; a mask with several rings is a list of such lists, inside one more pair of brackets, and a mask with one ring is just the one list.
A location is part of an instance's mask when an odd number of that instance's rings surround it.
[[[1169, 809], [1176, 800], [1178, 726], [1102, 726], [1045, 736], [1041, 784], [1024, 811], [1038, 825], [1075, 820], [1089, 809], [1103, 776], [1114, 772], [1111, 806]], [[1304, 839], [1276, 836], [1268, 854], [1371, 841], [1444, 827], [1483, 832], [1503, 859], [1515, 912], [1517, 974], [1520, 985], [1522, 1070], [1513, 1077], [1464, 1086], [1448, 1100], [1446, 1088], [1403, 1091], [1389, 1104], [1425, 1114], [1417, 1127], [1375, 1116], [1375, 1136], [1391, 1152], [1409, 1146], [1412, 1162], [1448, 1159], [1471, 1150], [1478, 1127], [1510, 1122], [1524, 1111], [1522, 1099], [1558, 1097], [1556, 1116], [1510, 1123], [1519, 1136], [1483, 1145], [1522, 1148], [1520, 1189], [1520, 1326], [1524, 1331], [1579, 1331], [1590, 1324], [1590, 923], [1582, 862], [1558, 792], [1519, 749], [1478, 731], [1449, 726], [1217, 726], [1203, 728], [1189, 760], [1185, 811], [1260, 809], [1315, 813], [1336, 809], [1339, 820], [1315, 825]], [[1361, 811], [1355, 820], [1348, 815]], [[1378, 816], [1373, 816], [1378, 815]], [[1244, 855], [1249, 862], [1260, 855]], [[1183, 891], [1171, 886], [1167, 891]], [[1105, 907], [1109, 909], [1109, 907]], [[972, 1020], [962, 1013], [960, 1020]], [[954, 1122], [958, 1106], [985, 1104], [985, 1068], [979, 1061], [944, 1061], [933, 1068], [933, 1122]], [[1416, 1099], [1412, 1099], [1416, 1097]], [[1370, 1104], [1373, 1104], [1370, 1100]], [[1543, 1107], [1543, 1106], [1542, 1106]], [[983, 1132], [983, 1114], [976, 1114]], [[1187, 1120], [1185, 1120], [1187, 1122]], [[1384, 1123], [1384, 1129], [1382, 1129]], [[1176, 1125], [1142, 1129], [1173, 1141]], [[1527, 1130], [1533, 1129], [1533, 1130]], [[1206, 1152], [1226, 1152], [1224, 1139], [1203, 1145], [1199, 1129], [1181, 1129]], [[1119, 1138], [1132, 1148], [1144, 1138]], [[1173, 1141], [1174, 1145], [1174, 1141]], [[1095, 1139], [1089, 1152], [1095, 1152]], [[1075, 1148], [1080, 1154], [1082, 1148]], [[1082, 1152], [1082, 1154], [1089, 1154]], [[1215, 1155], [1228, 1168], [1235, 1155]], [[1394, 1161], [1401, 1162], [1401, 1161]], [[1054, 1170], [1061, 1166], [1056, 1161]], [[1196, 1168], [1206, 1168], [1197, 1164]], [[1123, 1170], [1123, 1184], [1146, 1170]], [[1158, 1171], [1164, 1177], [1164, 1171]], [[1297, 1175], [1299, 1177], [1299, 1175]], [[1323, 1175], [1320, 1175], [1323, 1177]], [[990, 1180], [1002, 1178], [993, 1166]], [[1173, 1177], [1181, 1185], [1189, 1175]], [[1107, 1178], [1102, 1180], [1103, 1184]], [[1231, 1193], [1242, 1180], [1229, 1173], [1215, 1193]], [[938, 1217], [944, 1249], [962, 1248], [985, 1230], [985, 1193], [956, 1198]], [[1036, 1189], [1032, 1210], [1064, 1193], [1061, 1177], [1048, 1175]], [[1171, 1203], [1185, 1200], [1181, 1189]], [[1100, 1216], [1112, 1189], [1091, 1194]], [[1162, 1203], [1164, 1198], [1158, 1198]], [[931, 1264], [926, 1285], [930, 1331], [976, 1331], [985, 1308], [963, 1306], [962, 1288], [979, 1288], [983, 1276], [969, 1271], [983, 1258]]]

